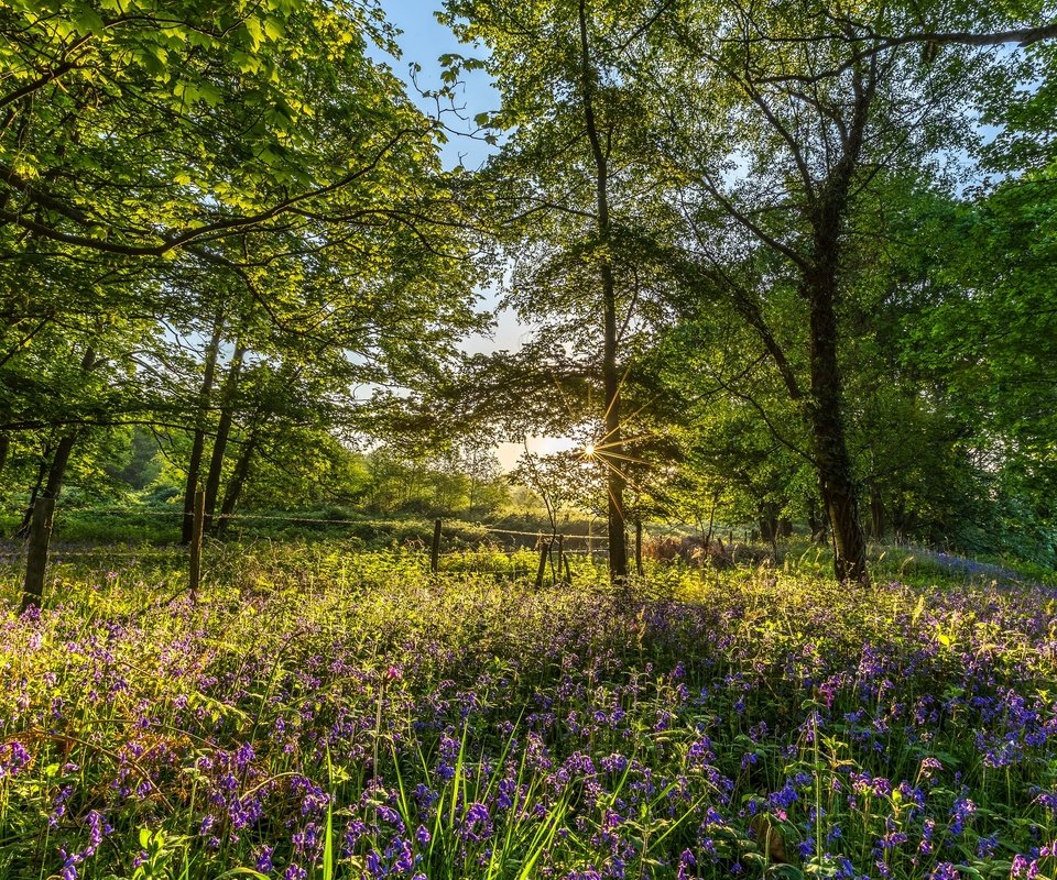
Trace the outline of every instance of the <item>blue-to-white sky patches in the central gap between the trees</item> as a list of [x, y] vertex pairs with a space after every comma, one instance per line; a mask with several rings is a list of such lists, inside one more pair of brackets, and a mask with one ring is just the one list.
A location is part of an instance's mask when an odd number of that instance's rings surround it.
[[[390, 22], [403, 33], [397, 37], [402, 51], [399, 61], [388, 58], [393, 72], [410, 82], [408, 65], [416, 63], [422, 66], [422, 73], [416, 79], [421, 89], [435, 89], [440, 85], [442, 67], [438, 57], [446, 53], [458, 53], [467, 57], [480, 57], [483, 48], [466, 46], [456, 40], [455, 35], [434, 16], [434, 11], [440, 7], [440, 0], [381, 0], [382, 9]], [[417, 98], [413, 87], [408, 88], [412, 98], [418, 100], [426, 112], [435, 112], [436, 105]], [[468, 120], [477, 113], [499, 109], [499, 92], [492, 86], [491, 78], [483, 70], [473, 70], [464, 74], [460, 86], [461, 116]], [[455, 120], [451, 121], [455, 127]], [[472, 128], [472, 123], [468, 123]], [[455, 167], [459, 163], [470, 169], [480, 167], [488, 158], [490, 147], [483, 141], [453, 135], [444, 145], [442, 156], [447, 167]], [[483, 296], [482, 306], [494, 308], [494, 294], [480, 292]], [[491, 353], [495, 351], [515, 351], [523, 341], [526, 341], [531, 328], [519, 323], [516, 316], [510, 310], [499, 314], [497, 327], [491, 336], [469, 337], [462, 348], [470, 353]], [[557, 452], [575, 446], [571, 440], [557, 437], [530, 437], [530, 451], [536, 453]], [[519, 455], [524, 451], [522, 443], [500, 443], [495, 453], [504, 470], [514, 466]]]

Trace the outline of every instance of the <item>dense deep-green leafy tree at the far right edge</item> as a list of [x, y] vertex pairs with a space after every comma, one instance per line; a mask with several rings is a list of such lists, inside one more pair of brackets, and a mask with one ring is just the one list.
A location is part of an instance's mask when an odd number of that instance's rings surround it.
[[[1035, 54], [1051, 63], [1055, 53], [1040, 46]], [[1038, 94], [1006, 106], [1006, 128], [985, 150], [991, 167], [1018, 173], [968, 191], [947, 210], [944, 258], [923, 272], [942, 295], [908, 328], [905, 360], [944, 387], [965, 454], [977, 462], [970, 475], [948, 480], [968, 485], [976, 499], [965, 505], [971, 516], [960, 542], [1049, 563], [1057, 542], [1057, 361], [1048, 341], [1057, 319], [1057, 164], [1038, 130], [1050, 124], [1043, 81]]]

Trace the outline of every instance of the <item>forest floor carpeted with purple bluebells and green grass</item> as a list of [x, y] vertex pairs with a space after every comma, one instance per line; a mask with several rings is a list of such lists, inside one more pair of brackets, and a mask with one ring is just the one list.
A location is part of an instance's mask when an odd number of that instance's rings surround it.
[[[1057, 869], [1057, 588], [349, 542], [0, 560], [0, 880]], [[1001, 566], [1000, 566], [1001, 568]]]

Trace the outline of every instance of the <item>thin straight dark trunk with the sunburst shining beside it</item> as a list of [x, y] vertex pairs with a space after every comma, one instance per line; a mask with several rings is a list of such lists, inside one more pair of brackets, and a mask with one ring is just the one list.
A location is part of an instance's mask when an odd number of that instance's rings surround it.
[[602, 148], [595, 119], [595, 74], [591, 69], [590, 44], [587, 33], [586, 0], [579, 3], [580, 23], [580, 87], [584, 101], [584, 121], [595, 162], [596, 220], [602, 246], [599, 260], [599, 280], [602, 288], [602, 388], [606, 398], [602, 451], [599, 458], [606, 464], [606, 490], [609, 521], [609, 576], [612, 581], [628, 578], [628, 542], [624, 516], [624, 448], [620, 424], [620, 370], [617, 362], [619, 337], [617, 330], [617, 284], [613, 266], [606, 250], [612, 237], [609, 216], [609, 160]]

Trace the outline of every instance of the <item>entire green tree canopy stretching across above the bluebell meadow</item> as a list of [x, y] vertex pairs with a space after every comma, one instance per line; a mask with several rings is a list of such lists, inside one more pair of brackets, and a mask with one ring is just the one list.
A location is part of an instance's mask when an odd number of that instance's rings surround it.
[[[893, 534], [1054, 560], [1050, 4], [438, 18], [477, 57], [434, 102], [468, 69], [498, 88], [478, 172], [444, 170], [369, 0], [0, 10], [20, 521], [148, 472], [185, 514], [203, 485], [219, 530], [269, 485], [322, 497], [312, 471], [392, 507], [422, 496], [366, 472], [440, 461], [466, 482], [434, 497], [472, 513], [480, 438], [545, 431], [590, 444], [582, 474], [525, 468], [604, 477], [614, 579], [644, 516], [796, 521], [840, 580]], [[488, 284], [533, 338], [469, 356]]]

